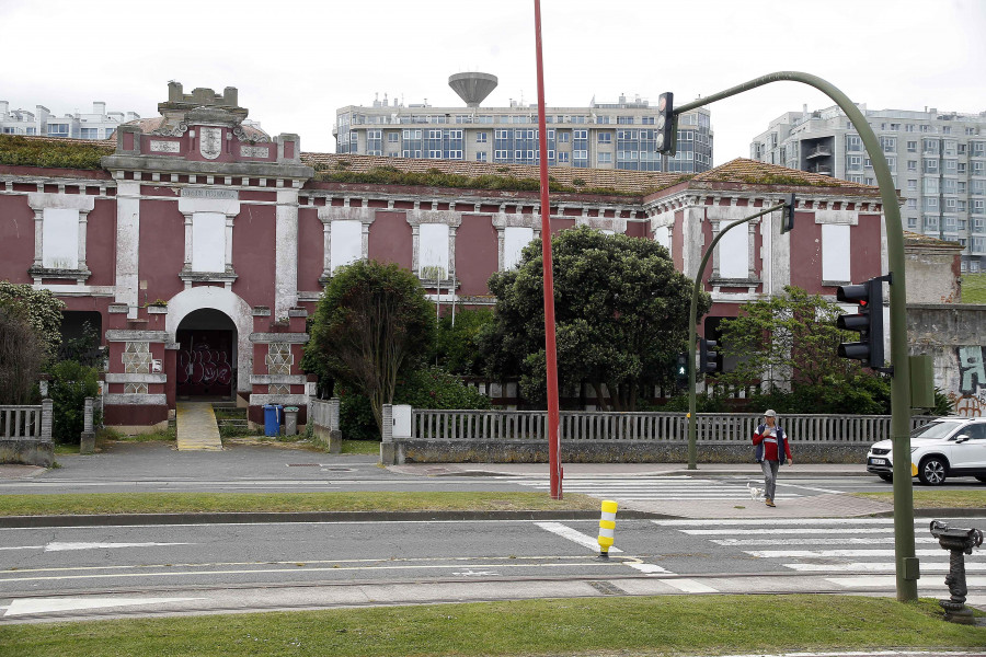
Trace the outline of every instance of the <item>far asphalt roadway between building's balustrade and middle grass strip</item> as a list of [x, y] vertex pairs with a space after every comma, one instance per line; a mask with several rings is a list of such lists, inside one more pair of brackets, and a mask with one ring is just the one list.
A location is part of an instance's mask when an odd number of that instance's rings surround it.
[[[376, 456], [330, 456], [302, 449], [234, 446], [221, 452], [179, 452], [168, 443], [117, 443], [104, 453], [59, 456], [61, 468], [36, 476], [0, 480], [0, 494], [133, 492], [314, 492], [314, 491], [543, 491], [547, 475], [480, 475], [424, 469], [406, 474], [380, 468]], [[477, 465], [481, 468], [481, 465]], [[861, 472], [861, 468], [857, 468]], [[477, 471], [481, 473], [481, 471]], [[746, 484], [763, 486], [755, 471], [721, 476], [674, 476], [611, 472], [566, 472], [565, 492], [621, 499], [747, 498]], [[949, 488], [982, 489], [971, 477], [948, 480]], [[828, 476], [786, 468], [778, 498], [830, 493], [890, 491], [875, 476]]]

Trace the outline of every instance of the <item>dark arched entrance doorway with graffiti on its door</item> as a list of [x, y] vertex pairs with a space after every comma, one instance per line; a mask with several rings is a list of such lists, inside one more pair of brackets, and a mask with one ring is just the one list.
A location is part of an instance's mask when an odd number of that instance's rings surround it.
[[179, 400], [232, 400], [237, 380], [237, 326], [222, 311], [186, 314], [177, 331], [175, 392]]

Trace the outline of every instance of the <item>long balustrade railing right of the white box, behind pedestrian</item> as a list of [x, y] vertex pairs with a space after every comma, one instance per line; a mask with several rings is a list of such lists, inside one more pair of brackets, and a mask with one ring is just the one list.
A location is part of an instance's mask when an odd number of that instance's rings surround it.
[[[912, 428], [935, 419], [915, 416]], [[697, 439], [702, 442], [748, 442], [763, 422], [758, 413], [696, 414]], [[890, 438], [890, 415], [792, 414], [779, 424], [798, 442], [868, 445]], [[411, 438], [417, 440], [542, 440], [543, 411], [413, 410]], [[563, 411], [562, 440], [686, 441], [685, 413], [600, 413]]]

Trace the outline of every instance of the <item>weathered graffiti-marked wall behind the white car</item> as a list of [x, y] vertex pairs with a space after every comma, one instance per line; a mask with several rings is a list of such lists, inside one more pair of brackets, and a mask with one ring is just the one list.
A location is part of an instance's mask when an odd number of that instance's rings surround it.
[[935, 385], [952, 400], [955, 413], [986, 413], [986, 306], [935, 303], [907, 307], [913, 355], [935, 359]]

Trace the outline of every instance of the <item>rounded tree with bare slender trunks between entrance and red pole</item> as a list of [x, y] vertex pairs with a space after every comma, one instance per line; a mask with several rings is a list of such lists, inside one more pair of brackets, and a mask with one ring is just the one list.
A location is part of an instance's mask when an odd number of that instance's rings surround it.
[[380, 426], [398, 376], [432, 349], [434, 314], [411, 272], [375, 261], [341, 267], [316, 309], [306, 364], [366, 395]]

